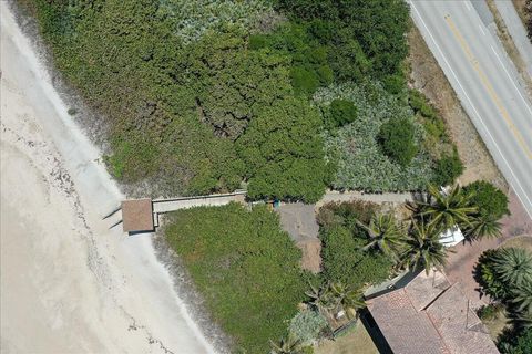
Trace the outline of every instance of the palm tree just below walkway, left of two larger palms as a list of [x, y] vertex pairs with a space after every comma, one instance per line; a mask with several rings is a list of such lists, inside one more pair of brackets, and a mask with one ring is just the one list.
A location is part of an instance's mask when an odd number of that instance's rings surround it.
[[406, 232], [405, 228], [398, 225], [392, 214], [374, 215], [369, 225], [359, 220], [357, 220], [357, 225], [362, 227], [369, 236], [369, 242], [364, 247], [365, 250], [377, 248], [382, 253], [397, 259]]

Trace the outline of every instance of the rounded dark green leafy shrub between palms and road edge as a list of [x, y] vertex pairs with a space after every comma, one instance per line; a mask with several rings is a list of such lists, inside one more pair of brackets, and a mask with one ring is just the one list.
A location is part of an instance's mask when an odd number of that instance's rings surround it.
[[473, 181], [463, 189], [472, 195], [470, 202], [479, 209], [482, 216], [500, 219], [510, 214], [507, 195], [489, 181]]

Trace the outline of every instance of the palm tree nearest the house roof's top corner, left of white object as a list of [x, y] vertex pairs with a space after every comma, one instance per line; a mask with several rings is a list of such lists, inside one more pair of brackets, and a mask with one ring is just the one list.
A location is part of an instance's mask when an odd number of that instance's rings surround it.
[[421, 218], [411, 221], [411, 229], [405, 239], [405, 249], [400, 254], [400, 266], [411, 270], [423, 267], [427, 273], [441, 269], [446, 264], [447, 251], [440, 242], [441, 226], [427, 223]]

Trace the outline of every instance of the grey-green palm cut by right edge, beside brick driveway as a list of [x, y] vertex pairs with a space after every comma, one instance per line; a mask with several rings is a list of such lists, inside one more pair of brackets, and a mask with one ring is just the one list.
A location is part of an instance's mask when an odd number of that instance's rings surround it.
[[502, 248], [491, 257], [495, 275], [508, 287], [531, 287], [532, 253], [523, 248]]

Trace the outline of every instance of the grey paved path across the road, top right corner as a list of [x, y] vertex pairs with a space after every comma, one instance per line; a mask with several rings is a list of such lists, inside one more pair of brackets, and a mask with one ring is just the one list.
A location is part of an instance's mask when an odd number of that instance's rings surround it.
[[532, 76], [532, 43], [526, 37], [526, 30], [523, 22], [513, 7], [513, 2], [509, 0], [495, 0], [497, 9], [507, 25], [510, 35], [518, 48], [519, 54], [526, 63], [526, 71]]

